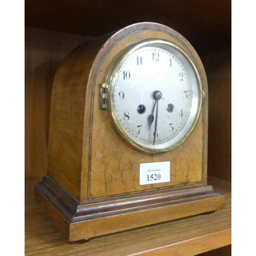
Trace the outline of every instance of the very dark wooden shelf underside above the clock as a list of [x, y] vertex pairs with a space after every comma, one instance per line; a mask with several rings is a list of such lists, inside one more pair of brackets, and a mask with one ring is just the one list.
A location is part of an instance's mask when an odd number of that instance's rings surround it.
[[26, 27], [97, 37], [138, 22], [171, 27], [198, 49], [231, 45], [231, 0], [25, 1]]

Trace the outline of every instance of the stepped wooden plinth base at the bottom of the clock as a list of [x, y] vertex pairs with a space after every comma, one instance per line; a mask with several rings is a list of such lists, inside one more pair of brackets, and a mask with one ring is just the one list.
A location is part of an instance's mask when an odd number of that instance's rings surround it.
[[35, 186], [35, 200], [70, 241], [198, 215], [224, 207], [212, 186], [164, 190], [159, 194], [79, 204], [46, 176]]

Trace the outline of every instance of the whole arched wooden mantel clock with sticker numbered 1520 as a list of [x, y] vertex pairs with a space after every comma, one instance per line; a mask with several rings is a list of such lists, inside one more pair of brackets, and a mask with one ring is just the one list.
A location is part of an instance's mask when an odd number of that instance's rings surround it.
[[221, 208], [207, 115], [202, 62], [175, 30], [138, 23], [86, 42], [55, 75], [35, 199], [71, 241]]

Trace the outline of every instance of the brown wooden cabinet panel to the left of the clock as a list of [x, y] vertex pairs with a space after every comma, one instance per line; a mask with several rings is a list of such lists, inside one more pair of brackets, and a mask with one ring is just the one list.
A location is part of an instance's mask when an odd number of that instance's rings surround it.
[[25, 177], [46, 175], [53, 78], [63, 58], [89, 39], [25, 28]]

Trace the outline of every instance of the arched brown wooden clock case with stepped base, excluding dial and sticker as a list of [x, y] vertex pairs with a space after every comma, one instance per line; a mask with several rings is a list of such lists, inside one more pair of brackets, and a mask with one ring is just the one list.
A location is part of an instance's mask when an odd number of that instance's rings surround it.
[[[112, 129], [100, 108], [100, 84], [113, 61], [137, 41], [161, 38], [186, 50], [205, 93], [195, 130], [164, 154], [135, 151]], [[224, 206], [207, 185], [208, 90], [204, 68], [189, 42], [155, 23], [139, 23], [74, 49], [53, 84], [48, 170], [35, 199], [70, 241], [174, 220]], [[170, 161], [170, 182], [140, 185], [140, 163]]]

